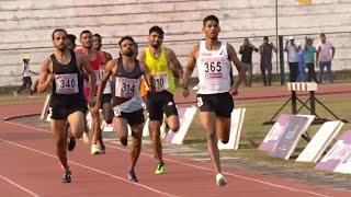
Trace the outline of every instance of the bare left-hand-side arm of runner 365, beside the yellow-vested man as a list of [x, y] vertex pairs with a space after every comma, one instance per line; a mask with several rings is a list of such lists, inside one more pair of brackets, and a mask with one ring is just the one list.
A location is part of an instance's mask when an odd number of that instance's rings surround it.
[[191, 49], [189, 60], [185, 67], [185, 71], [183, 73], [182, 80], [179, 82], [180, 85], [183, 88], [183, 96], [189, 95], [189, 79], [191, 74], [193, 73], [195, 66], [196, 66], [196, 59], [200, 50], [200, 45], [194, 45], [193, 48]]

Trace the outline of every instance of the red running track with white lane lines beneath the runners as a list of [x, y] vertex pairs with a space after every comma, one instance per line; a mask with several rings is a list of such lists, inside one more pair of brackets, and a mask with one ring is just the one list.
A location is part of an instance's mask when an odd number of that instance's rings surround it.
[[2, 120], [19, 112], [39, 112], [39, 106], [1, 107], [0, 121], [0, 190], [1, 196], [350, 196], [338, 192], [250, 172], [225, 167], [229, 181], [215, 185], [211, 163], [197, 163], [165, 154], [167, 174], [154, 175], [152, 152], [144, 149], [136, 172], [139, 184], [126, 177], [128, 149], [107, 143], [107, 153], [90, 155], [89, 146], [78, 141], [69, 153], [73, 173], [71, 184], [63, 184], [61, 171], [48, 130]]

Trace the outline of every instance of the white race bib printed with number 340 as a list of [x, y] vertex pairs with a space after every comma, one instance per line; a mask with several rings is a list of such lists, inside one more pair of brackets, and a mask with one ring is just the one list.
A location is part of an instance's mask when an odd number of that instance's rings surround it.
[[68, 74], [56, 74], [56, 94], [77, 94], [78, 91], [78, 74], [68, 73]]

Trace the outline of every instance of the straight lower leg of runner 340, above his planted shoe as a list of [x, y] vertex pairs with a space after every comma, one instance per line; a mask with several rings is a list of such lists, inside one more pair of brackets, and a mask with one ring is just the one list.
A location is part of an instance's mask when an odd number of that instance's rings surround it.
[[50, 130], [56, 140], [56, 154], [58, 157], [59, 162], [61, 163], [65, 170], [68, 170], [67, 163], [67, 131], [66, 131], [66, 119], [50, 119]]

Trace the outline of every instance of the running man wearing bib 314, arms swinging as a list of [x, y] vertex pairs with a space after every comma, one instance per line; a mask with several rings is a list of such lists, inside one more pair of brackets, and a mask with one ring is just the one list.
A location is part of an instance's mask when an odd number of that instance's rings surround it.
[[[114, 127], [123, 146], [127, 146], [127, 125], [132, 128], [132, 162], [127, 175], [132, 182], [138, 182], [134, 167], [141, 150], [143, 125], [145, 121], [141, 106], [143, 100], [139, 92], [140, 77], [144, 74], [149, 84], [150, 74], [147, 67], [135, 59], [135, 42], [132, 37], [124, 36], [118, 44], [121, 57], [109, 61], [106, 65], [97, 97], [98, 104], [100, 104], [102, 102], [102, 90], [105, 88], [110, 77], [113, 76], [115, 78], [113, 94]], [[99, 112], [97, 106], [94, 107], [94, 113]]]

